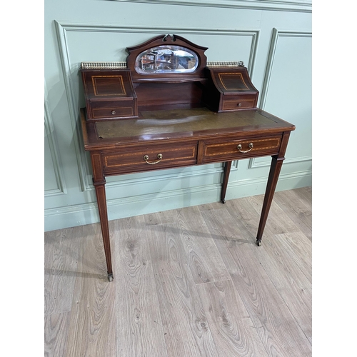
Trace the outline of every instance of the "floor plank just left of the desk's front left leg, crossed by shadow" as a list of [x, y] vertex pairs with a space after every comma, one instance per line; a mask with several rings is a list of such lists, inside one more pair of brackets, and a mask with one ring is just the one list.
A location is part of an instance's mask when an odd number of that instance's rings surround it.
[[99, 224], [84, 228], [64, 356], [116, 356], [115, 285], [106, 276]]

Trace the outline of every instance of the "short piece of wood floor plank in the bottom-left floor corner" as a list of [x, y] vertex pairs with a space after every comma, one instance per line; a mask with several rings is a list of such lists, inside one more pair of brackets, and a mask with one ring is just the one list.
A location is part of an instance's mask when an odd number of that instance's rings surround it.
[[69, 332], [70, 312], [45, 315], [44, 356], [64, 356]]

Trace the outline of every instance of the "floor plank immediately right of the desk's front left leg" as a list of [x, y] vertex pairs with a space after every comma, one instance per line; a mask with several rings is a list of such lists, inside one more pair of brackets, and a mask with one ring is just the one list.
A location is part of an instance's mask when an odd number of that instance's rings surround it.
[[124, 218], [114, 224], [117, 356], [165, 357], [164, 327], [147, 238], [149, 228], [144, 216]]

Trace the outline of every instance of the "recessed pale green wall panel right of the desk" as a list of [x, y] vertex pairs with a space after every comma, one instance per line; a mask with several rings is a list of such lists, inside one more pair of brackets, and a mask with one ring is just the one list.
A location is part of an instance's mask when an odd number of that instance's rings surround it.
[[273, 31], [261, 107], [296, 125], [286, 151], [290, 159], [311, 156], [311, 33]]

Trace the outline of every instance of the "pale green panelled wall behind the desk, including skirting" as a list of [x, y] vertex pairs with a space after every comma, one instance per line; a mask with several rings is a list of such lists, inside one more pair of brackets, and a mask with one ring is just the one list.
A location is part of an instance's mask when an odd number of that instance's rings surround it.
[[[45, 231], [99, 221], [78, 127], [80, 62], [125, 61], [127, 46], [159, 34], [208, 47], [208, 61], [244, 61], [258, 106], [296, 125], [277, 189], [311, 185], [311, 1], [45, 0], [44, 26]], [[269, 165], [233, 162], [226, 198], [263, 193]], [[109, 219], [218, 201], [222, 173], [211, 164], [107, 178]]]

